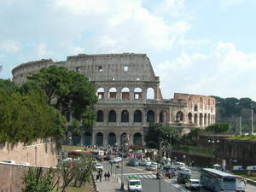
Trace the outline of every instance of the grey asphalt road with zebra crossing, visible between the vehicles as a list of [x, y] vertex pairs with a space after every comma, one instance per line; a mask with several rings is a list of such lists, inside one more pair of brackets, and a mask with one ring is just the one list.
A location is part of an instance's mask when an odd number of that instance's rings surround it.
[[[104, 167], [104, 171], [108, 172], [111, 171], [111, 166], [108, 161], [104, 161], [102, 163]], [[116, 168], [119, 166], [119, 168]], [[131, 175], [136, 175], [142, 181], [143, 191], [145, 192], [156, 192], [160, 191], [160, 179], [156, 179], [154, 172], [148, 172], [145, 170], [143, 166], [131, 167], [126, 166], [126, 161], [124, 161], [124, 169], [123, 169], [123, 178], [124, 183], [127, 186], [128, 177]], [[116, 174], [116, 177], [121, 177], [121, 163], [113, 164], [112, 166], [112, 173], [113, 175]], [[192, 169], [192, 177], [199, 178], [200, 172], [197, 172], [195, 169]], [[161, 192], [188, 192], [189, 190], [185, 188], [184, 184], [177, 183], [177, 178], [163, 178], [161, 179]], [[210, 192], [208, 189], [201, 188], [201, 192]], [[250, 184], [247, 184], [246, 192], [255, 192], [256, 187]]]

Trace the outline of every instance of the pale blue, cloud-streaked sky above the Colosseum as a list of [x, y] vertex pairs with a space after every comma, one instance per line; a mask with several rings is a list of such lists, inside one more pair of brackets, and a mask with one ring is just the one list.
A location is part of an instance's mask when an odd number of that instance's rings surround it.
[[21, 63], [145, 53], [174, 93], [256, 101], [255, 0], [0, 0], [0, 79]]

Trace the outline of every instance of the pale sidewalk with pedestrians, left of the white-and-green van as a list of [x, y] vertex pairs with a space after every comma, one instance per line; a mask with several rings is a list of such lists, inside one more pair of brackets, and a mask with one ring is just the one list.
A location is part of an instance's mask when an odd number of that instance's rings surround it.
[[[115, 192], [115, 191], [122, 191], [121, 182], [118, 179], [115, 179], [114, 175], [109, 177], [109, 181], [105, 181], [105, 177], [102, 177], [102, 182], [96, 183], [99, 192]], [[125, 191], [125, 190], [123, 190]]]

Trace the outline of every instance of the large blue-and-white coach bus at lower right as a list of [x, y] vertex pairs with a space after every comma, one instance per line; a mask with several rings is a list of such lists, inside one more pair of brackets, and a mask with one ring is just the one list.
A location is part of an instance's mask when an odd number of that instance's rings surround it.
[[216, 169], [202, 169], [200, 183], [212, 191], [236, 192], [236, 176]]

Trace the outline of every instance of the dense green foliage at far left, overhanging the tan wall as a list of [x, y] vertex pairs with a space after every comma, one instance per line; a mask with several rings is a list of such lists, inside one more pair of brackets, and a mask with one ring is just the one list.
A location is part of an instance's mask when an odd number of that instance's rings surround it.
[[37, 84], [28, 82], [19, 88], [0, 79], [0, 143], [32, 143], [46, 137], [60, 143], [66, 128], [66, 119], [49, 106]]

